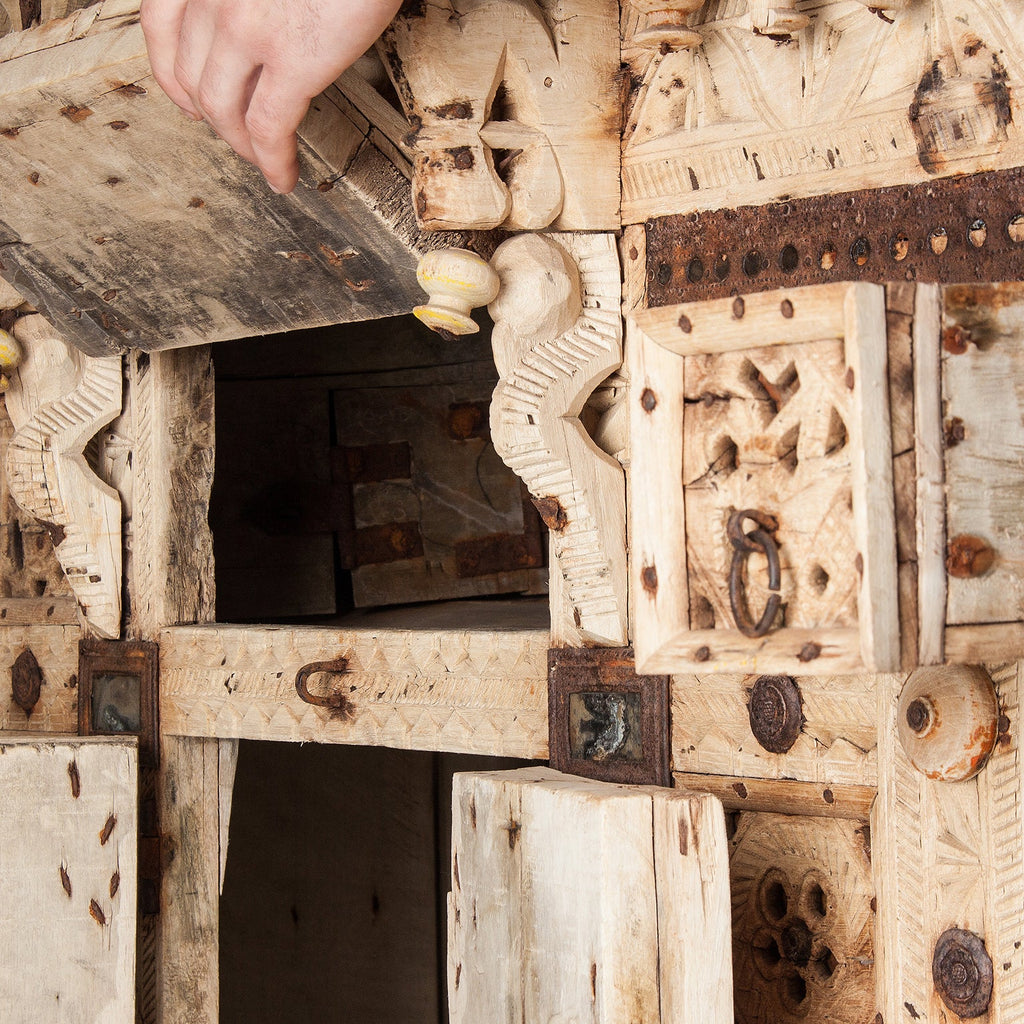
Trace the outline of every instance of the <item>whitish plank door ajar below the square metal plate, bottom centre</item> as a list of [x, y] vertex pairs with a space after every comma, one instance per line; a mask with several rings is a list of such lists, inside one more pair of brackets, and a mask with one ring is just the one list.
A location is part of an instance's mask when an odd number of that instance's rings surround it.
[[452, 1024], [731, 1024], [730, 935], [716, 797], [548, 768], [456, 776]]

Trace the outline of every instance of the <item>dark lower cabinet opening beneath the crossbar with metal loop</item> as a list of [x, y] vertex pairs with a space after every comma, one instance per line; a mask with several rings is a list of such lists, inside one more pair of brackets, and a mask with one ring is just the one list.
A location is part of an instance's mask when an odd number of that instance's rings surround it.
[[447, 1020], [452, 776], [530, 762], [243, 741], [220, 1020]]

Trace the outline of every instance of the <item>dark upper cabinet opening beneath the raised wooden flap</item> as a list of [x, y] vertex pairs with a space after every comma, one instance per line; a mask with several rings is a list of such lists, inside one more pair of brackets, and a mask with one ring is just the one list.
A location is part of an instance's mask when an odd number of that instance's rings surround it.
[[547, 531], [490, 440], [476, 315], [213, 347], [219, 622], [547, 626]]

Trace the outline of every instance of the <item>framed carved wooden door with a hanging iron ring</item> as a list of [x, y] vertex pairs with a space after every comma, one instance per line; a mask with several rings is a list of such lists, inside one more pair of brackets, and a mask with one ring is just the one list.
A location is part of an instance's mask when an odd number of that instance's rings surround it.
[[883, 290], [666, 306], [631, 330], [640, 671], [897, 668]]

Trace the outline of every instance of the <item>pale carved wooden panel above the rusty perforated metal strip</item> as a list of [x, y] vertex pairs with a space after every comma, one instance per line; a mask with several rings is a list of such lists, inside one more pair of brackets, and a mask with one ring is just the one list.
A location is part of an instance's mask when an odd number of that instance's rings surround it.
[[705, 4], [701, 44], [665, 54], [632, 43], [630, 9], [624, 223], [1018, 164], [1019, 9], [936, 0], [890, 24], [868, 6], [801, 8], [779, 43], [748, 4]]

